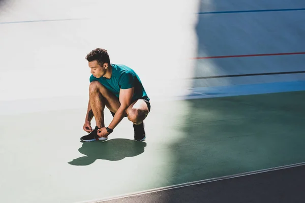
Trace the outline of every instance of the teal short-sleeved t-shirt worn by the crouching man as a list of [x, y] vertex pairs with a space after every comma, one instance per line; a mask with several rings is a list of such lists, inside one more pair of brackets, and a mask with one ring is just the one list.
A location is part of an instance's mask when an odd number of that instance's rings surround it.
[[99, 81], [109, 91], [111, 91], [117, 98], [119, 97], [120, 89], [129, 89], [134, 87], [135, 92], [132, 97], [132, 102], [140, 98], [149, 101], [146, 91], [141, 83], [139, 76], [130, 67], [122, 64], [113, 64], [112, 75], [110, 79], [101, 77], [96, 78], [93, 75], [90, 76], [90, 82]]

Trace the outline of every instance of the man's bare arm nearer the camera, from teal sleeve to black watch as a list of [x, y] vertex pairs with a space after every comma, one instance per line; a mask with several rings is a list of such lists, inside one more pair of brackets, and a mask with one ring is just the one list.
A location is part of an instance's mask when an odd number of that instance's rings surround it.
[[135, 88], [120, 89], [119, 91], [119, 102], [120, 107], [116, 111], [111, 123], [108, 125], [110, 129], [114, 129], [117, 124], [124, 118], [126, 110], [132, 103], [132, 96], [134, 94]]

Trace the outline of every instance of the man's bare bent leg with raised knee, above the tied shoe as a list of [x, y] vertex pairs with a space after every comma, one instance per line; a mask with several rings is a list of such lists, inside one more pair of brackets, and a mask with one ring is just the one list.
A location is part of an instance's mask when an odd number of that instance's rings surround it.
[[105, 127], [105, 106], [112, 112], [116, 112], [120, 106], [118, 98], [107, 90], [101, 83], [94, 81], [89, 86], [89, 103], [93, 111], [96, 124], [99, 128]]

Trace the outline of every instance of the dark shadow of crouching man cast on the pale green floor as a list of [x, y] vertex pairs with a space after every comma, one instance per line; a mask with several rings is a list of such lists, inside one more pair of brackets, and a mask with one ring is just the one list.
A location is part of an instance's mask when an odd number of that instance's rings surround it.
[[97, 159], [118, 161], [133, 157], [144, 152], [145, 142], [129, 139], [111, 139], [106, 142], [84, 142], [78, 151], [86, 156], [78, 157], [68, 162], [71, 165], [89, 165]]

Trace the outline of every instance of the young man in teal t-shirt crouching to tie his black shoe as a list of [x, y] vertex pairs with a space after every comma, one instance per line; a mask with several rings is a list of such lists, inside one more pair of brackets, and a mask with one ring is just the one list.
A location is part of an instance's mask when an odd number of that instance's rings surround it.
[[[84, 142], [107, 140], [117, 124], [127, 117], [134, 127], [134, 139], [145, 140], [143, 120], [150, 112], [149, 98], [138, 75], [126, 65], [110, 63], [107, 50], [97, 48], [85, 57], [91, 69], [88, 109], [81, 137]], [[104, 123], [105, 106], [113, 119]], [[96, 127], [90, 121], [95, 117]]]

